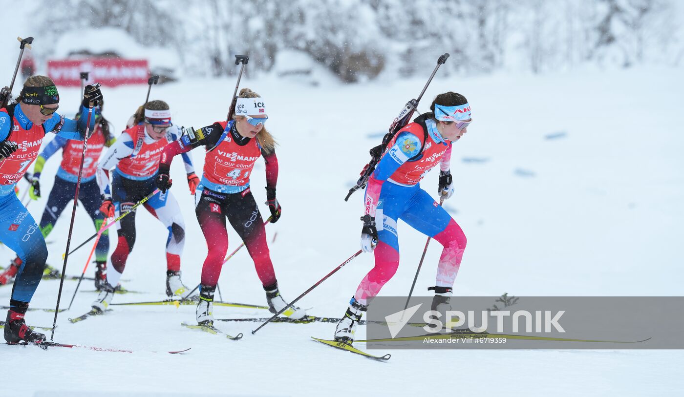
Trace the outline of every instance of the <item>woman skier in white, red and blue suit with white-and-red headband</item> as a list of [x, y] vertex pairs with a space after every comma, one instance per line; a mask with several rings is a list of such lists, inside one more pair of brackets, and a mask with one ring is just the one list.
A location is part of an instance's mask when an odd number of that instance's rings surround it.
[[[147, 102], [137, 113], [134, 125], [124, 131], [103, 156], [98, 167], [98, 183], [103, 202], [100, 211], [109, 217], [127, 212], [144, 197], [155, 191], [155, 176], [159, 169], [161, 152], [168, 143], [181, 136], [180, 129], [171, 123], [171, 111], [163, 100]], [[199, 178], [189, 156], [184, 157], [185, 172], [190, 192], [194, 193]], [[109, 171], [111, 187], [109, 186]], [[166, 241], [166, 295], [183, 297], [188, 291], [181, 282], [181, 254], [185, 244], [185, 222], [175, 197], [157, 193], [144, 207], [168, 229]], [[98, 298], [92, 303], [96, 310], [105, 311], [114, 296], [135, 244], [135, 212], [116, 223], [118, 245], [109, 258], [107, 282]]]

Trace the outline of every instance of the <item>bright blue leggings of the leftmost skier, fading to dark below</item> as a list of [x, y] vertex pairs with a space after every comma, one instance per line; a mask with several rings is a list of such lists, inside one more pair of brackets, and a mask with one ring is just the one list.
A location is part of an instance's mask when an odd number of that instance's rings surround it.
[[0, 241], [21, 259], [12, 299], [28, 303], [45, 269], [47, 246], [34, 217], [14, 192], [0, 197]]

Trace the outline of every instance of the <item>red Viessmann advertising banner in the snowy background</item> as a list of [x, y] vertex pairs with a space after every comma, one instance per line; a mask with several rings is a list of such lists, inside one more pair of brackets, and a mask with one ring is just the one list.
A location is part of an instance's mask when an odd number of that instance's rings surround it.
[[81, 85], [81, 72], [90, 72], [89, 82], [109, 86], [147, 84], [150, 77], [147, 59], [53, 59], [47, 62], [47, 75], [57, 85]]

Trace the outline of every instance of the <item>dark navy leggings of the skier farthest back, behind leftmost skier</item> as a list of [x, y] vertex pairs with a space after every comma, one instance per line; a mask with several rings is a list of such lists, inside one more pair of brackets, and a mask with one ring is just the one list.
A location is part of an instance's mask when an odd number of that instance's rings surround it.
[[[55, 184], [50, 191], [47, 198], [45, 210], [40, 218], [40, 231], [43, 237], [47, 237], [52, 231], [57, 219], [62, 215], [62, 211], [69, 203], [74, 200], [74, 193], [76, 191], [75, 182], [69, 182], [59, 176], [55, 176]], [[79, 202], [83, 204], [90, 219], [95, 225], [95, 231], [100, 230], [104, 221], [103, 215], [100, 213], [100, 205], [102, 200], [100, 198], [100, 188], [97, 185], [95, 178], [88, 182], [81, 182], [81, 189], [79, 189]], [[95, 260], [97, 262], [107, 262], [107, 252], [109, 252], [109, 230], [103, 232], [102, 237], [95, 248]]]

